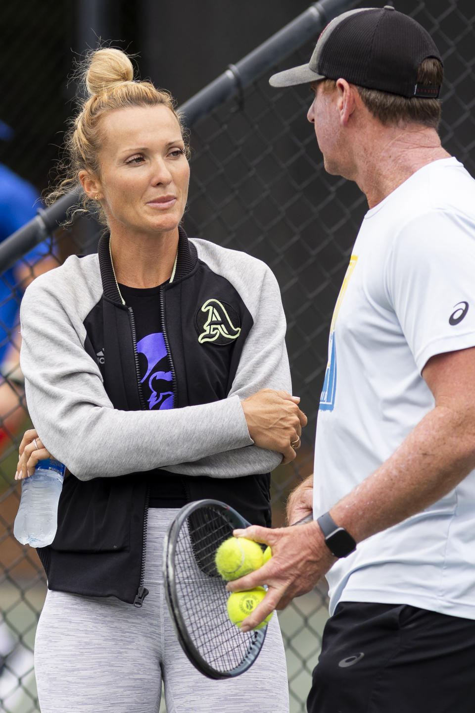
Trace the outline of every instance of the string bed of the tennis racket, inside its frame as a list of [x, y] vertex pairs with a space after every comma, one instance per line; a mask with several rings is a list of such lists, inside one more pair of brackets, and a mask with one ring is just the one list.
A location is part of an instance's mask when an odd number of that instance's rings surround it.
[[178, 533], [174, 563], [179, 610], [189, 637], [199, 655], [223, 672], [241, 665], [256, 639], [256, 632], [241, 632], [229, 620], [229, 593], [214, 563], [217, 548], [233, 529], [212, 508], [191, 513]]

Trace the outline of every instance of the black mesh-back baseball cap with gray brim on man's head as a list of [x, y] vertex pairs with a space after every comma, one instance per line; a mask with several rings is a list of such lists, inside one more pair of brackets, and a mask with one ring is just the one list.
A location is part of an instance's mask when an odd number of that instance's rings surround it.
[[273, 87], [320, 79], [405, 97], [437, 98], [439, 86], [417, 84], [417, 69], [427, 57], [442, 62], [432, 37], [412, 17], [393, 7], [360, 8], [335, 17], [323, 30], [308, 64], [273, 74]]

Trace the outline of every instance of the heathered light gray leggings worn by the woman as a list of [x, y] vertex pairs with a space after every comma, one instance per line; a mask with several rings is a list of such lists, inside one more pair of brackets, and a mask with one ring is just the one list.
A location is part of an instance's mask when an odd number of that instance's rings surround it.
[[150, 508], [141, 609], [114, 597], [48, 590], [36, 630], [41, 713], [288, 713], [286, 660], [274, 614], [254, 665], [213, 681], [187, 660], [169, 620], [162, 543], [176, 510]]

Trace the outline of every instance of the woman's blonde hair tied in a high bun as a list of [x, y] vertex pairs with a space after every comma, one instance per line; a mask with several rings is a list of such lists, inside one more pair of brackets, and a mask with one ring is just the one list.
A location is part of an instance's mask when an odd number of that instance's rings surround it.
[[177, 118], [188, 153], [187, 132], [181, 116], [175, 111], [176, 102], [172, 95], [164, 89], [155, 88], [150, 81], [134, 80], [132, 62], [122, 50], [106, 47], [88, 53], [78, 67], [78, 75], [82, 78], [88, 98], [80, 101], [78, 114], [71, 120], [71, 128], [65, 138], [65, 160], [59, 165], [63, 180], [56, 190], [46, 196], [46, 202], [51, 204], [77, 187], [80, 189], [79, 205], [73, 207], [71, 216], [75, 212], [90, 210], [95, 212], [103, 225], [107, 225], [102, 207], [85, 195], [78, 179], [80, 170], [100, 177], [98, 154], [103, 140], [100, 134], [103, 116], [110, 111], [134, 106], [163, 105]]

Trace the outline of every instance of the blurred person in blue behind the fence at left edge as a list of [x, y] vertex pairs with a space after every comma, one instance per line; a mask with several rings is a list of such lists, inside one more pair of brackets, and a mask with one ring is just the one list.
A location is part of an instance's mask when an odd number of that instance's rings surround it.
[[[14, 138], [14, 131], [0, 120], [0, 140]], [[0, 242], [36, 215], [36, 188], [0, 163]], [[24, 379], [20, 370], [19, 305], [26, 286], [58, 260], [46, 242], [30, 250], [0, 276], [0, 450], [9, 443], [26, 418], [22, 404]]]

